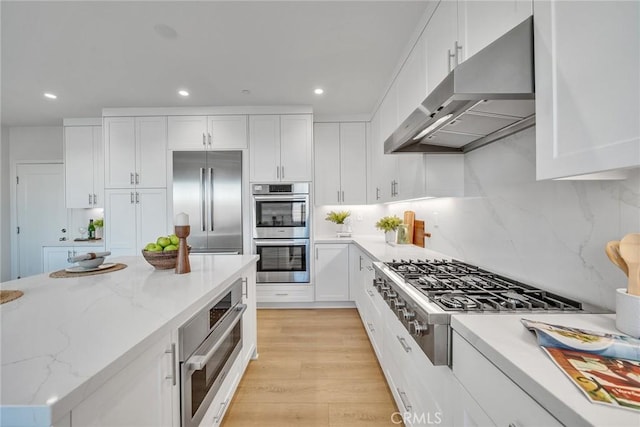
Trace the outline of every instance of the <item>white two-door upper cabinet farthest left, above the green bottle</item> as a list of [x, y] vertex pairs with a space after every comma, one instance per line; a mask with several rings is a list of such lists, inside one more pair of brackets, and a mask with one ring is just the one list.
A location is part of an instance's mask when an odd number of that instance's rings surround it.
[[64, 127], [66, 207], [104, 206], [102, 126]]

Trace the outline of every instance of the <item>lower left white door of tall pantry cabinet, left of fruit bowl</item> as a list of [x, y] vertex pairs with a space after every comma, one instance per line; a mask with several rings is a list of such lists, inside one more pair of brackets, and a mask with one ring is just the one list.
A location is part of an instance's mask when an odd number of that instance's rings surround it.
[[136, 251], [135, 197], [133, 189], [105, 190], [105, 243], [112, 256], [139, 255]]

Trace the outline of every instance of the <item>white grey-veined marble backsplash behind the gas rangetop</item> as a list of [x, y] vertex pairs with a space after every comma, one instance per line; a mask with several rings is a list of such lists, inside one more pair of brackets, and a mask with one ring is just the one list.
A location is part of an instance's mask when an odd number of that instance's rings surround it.
[[383, 207], [426, 220], [430, 249], [614, 310], [626, 277], [604, 247], [640, 232], [640, 171], [629, 175], [536, 181], [530, 128], [466, 155], [465, 197]]

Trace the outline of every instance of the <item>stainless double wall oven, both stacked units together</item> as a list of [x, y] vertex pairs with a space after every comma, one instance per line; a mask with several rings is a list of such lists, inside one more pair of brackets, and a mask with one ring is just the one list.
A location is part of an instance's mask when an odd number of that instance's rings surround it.
[[309, 183], [253, 184], [258, 283], [308, 283]]

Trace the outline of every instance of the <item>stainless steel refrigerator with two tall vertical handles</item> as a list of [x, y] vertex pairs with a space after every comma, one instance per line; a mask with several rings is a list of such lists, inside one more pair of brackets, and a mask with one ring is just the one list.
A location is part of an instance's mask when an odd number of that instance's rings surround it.
[[242, 152], [174, 151], [173, 212], [189, 215], [192, 253], [242, 253]]

